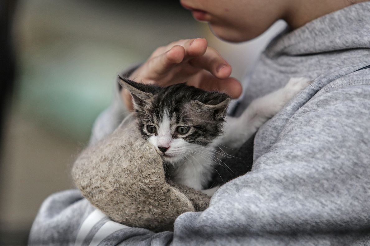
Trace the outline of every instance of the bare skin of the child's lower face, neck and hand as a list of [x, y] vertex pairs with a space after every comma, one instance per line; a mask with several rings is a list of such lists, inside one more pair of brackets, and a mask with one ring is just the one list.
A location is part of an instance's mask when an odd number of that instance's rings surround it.
[[[292, 30], [320, 16], [366, 0], [181, 0], [195, 19], [206, 21], [222, 40], [242, 42], [266, 31], [283, 19]], [[204, 90], [219, 90], [237, 98], [240, 82], [229, 77], [231, 66], [203, 38], [179, 40], [157, 48], [130, 79], [167, 86], [186, 82]], [[131, 96], [121, 91], [132, 110]]]

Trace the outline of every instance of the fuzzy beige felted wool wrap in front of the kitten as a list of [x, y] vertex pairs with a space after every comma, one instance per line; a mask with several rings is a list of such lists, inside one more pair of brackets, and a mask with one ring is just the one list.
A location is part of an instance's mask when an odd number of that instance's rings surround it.
[[160, 232], [184, 212], [208, 207], [209, 196], [166, 181], [161, 157], [129, 116], [110, 136], [85, 149], [72, 176], [82, 195], [112, 220]]

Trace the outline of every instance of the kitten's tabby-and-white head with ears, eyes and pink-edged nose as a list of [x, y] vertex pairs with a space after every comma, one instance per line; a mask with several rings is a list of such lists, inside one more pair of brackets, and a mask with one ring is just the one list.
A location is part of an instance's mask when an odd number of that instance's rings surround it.
[[227, 94], [185, 83], [159, 87], [121, 77], [120, 82], [132, 95], [141, 135], [164, 161], [184, 159], [222, 134]]

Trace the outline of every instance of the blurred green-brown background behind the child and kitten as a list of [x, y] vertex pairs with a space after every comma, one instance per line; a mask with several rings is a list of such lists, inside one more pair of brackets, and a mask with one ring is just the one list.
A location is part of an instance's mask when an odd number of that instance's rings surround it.
[[0, 21], [0, 245], [26, 245], [42, 201], [74, 188], [71, 166], [118, 71], [205, 37], [241, 79], [285, 27], [225, 43], [173, 0], [2, 0]]

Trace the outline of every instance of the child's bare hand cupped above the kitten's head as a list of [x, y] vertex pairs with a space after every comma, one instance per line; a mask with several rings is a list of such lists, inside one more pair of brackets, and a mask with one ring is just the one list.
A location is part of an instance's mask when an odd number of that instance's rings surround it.
[[[216, 50], [207, 46], [207, 40], [196, 38], [157, 48], [130, 79], [161, 86], [186, 82], [207, 91], [224, 91], [237, 98], [242, 87], [238, 80], [229, 77], [230, 74], [231, 66]], [[132, 109], [131, 97], [126, 90], [122, 90], [122, 96], [128, 109]]]

